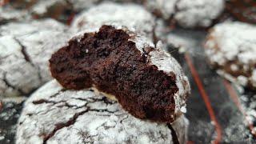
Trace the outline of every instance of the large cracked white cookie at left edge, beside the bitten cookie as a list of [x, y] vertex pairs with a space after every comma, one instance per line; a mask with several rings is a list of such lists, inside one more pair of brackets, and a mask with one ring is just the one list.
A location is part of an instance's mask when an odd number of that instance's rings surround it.
[[66, 26], [51, 19], [1, 26], [0, 97], [26, 95], [49, 81], [48, 60], [66, 33]]

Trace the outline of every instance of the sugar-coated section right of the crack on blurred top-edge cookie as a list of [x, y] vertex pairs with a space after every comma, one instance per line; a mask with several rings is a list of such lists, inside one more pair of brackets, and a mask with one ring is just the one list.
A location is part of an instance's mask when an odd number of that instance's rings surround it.
[[224, 9], [223, 0], [180, 0], [174, 19], [184, 27], [210, 26]]

